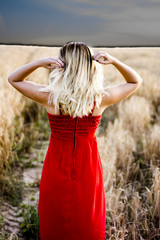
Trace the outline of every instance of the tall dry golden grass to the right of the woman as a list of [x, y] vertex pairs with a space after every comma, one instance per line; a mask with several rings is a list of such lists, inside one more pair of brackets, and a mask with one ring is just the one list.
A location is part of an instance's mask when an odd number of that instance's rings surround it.
[[[137, 70], [143, 84], [133, 95], [112, 106], [117, 114], [108, 121], [98, 141], [107, 237], [160, 239], [160, 49], [110, 52], [119, 54]], [[114, 74], [112, 79], [117, 82], [118, 73]], [[105, 110], [106, 119], [107, 115], [110, 117], [109, 108]]]

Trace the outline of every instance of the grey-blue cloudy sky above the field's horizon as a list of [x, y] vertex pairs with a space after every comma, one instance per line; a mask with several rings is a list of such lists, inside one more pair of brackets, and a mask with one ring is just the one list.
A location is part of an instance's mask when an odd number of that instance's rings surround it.
[[1, 0], [0, 44], [160, 46], [160, 0]]

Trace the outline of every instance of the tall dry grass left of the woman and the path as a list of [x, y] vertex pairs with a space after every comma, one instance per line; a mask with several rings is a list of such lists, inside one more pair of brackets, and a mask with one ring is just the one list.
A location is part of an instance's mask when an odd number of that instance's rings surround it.
[[[14, 204], [18, 203], [23, 194], [23, 162], [20, 160], [20, 153], [30, 151], [33, 141], [42, 136], [47, 127], [47, 116], [40, 104], [22, 96], [9, 84], [8, 76], [21, 65], [51, 54], [44, 48], [38, 49], [37, 51], [36, 47], [22, 46], [0, 47], [0, 196], [12, 200]], [[39, 68], [27, 79], [44, 83], [47, 76], [48, 71]], [[46, 123], [42, 124], [44, 119]], [[48, 136], [48, 133], [44, 131], [43, 135]]]

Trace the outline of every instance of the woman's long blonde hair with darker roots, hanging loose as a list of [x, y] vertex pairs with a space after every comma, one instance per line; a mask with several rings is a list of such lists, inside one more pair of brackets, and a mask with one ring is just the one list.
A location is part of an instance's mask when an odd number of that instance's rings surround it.
[[93, 61], [93, 52], [82, 42], [68, 42], [61, 49], [59, 58], [64, 68], [55, 68], [49, 75], [49, 85], [40, 89], [50, 92], [48, 104], [59, 106], [73, 117], [88, 116], [94, 106], [99, 107], [104, 92], [103, 69]]

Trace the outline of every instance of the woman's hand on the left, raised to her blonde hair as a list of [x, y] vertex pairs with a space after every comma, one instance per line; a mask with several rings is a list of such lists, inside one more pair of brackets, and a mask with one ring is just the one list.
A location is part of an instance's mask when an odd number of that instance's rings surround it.
[[59, 58], [54, 58], [54, 57], [45, 57], [45, 58], [40, 58], [39, 60], [39, 65], [41, 67], [47, 68], [47, 69], [52, 69], [56, 67], [64, 67], [64, 63], [59, 59]]

